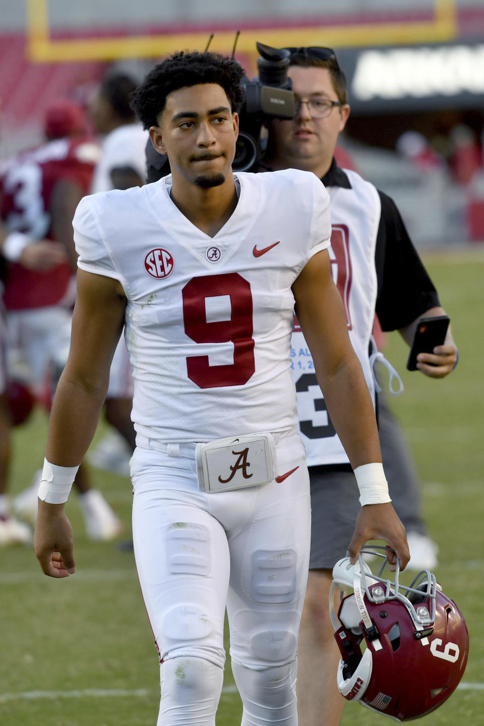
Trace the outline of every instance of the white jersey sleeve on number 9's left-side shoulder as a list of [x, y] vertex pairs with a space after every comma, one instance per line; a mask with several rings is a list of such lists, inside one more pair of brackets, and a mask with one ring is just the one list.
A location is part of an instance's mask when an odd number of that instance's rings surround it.
[[115, 280], [122, 282], [121, 275], [107, 251], [99, 224], [91, 209], [89, 197], [84, 197], [75, 210], [73, 227], [78, 267], [86, 272], [114, 277]]

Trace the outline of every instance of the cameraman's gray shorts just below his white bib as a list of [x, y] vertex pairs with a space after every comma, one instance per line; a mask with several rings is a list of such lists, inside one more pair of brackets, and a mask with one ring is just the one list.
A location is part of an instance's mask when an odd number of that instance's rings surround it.
[[361, 509], [350, 465], [310, 466], [311, 556], [309, 569], [332, 570], [346, 557]]

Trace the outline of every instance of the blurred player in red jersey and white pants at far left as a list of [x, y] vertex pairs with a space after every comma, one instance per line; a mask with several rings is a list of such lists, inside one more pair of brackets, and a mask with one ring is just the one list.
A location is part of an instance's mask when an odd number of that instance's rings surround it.
[[[99, 147], [86, 135], [86, 116], [78, 104], [52, 104], [44, 134], [46, 143], [9, 160], [0, 181], [1, 218], [10, 233], [2, 249], [8, 261], [8, 367], [27, 372], [38, 399], [50, 399], [52, 391], [46, 388], [52, 388], [55, 362], [69, 346], [76, 269], [72, 219], [89, 192], [99, 159]], [[32, 240], [44, 242], [31, 245]], [[101, 492], [91, 487], [85, 465], [75, 484], [89, 537], [120, 534], [120, 521]], [[15, 498], [17, 513], [35, 518], [35, 492], [36, 485]]]

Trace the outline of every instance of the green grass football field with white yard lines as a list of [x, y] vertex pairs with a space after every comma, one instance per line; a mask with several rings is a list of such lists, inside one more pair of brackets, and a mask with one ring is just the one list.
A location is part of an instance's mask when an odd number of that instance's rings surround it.
[[[464, 688], [422, 726], [484, 725], [484, 255], [427, 256], [448, 313], [460, 362], [443, 381], [405, 370], [406, 346], [390, 335], [386, 354], [406, 390], [391, 401], [403, 423], [422, 479], [422, 504], [440, 547], [436, 571], [467, 619], [470, 655]], [[12, 492], [30, 484], [44, 457], [41, 412], [15, 431]], [[98, 436], [102, 435], [102, 429]], [[130, 535], [128, 480], [92, 470]], [[131, 552], [86, 539], [75, 495], [68, 506], [78, 571], [64, 581], [41, 574], [27, 547], [0, 550], [1, 726], [153, 726], [157, 717], [157, 653]], [[355, 710], [356, 709], [356, 710]], [[241, 706], [229, 664], [218, 726], [237, 726]], [[348, 704], [343, 725], [388, 722]], [[304, 725], [301, 725], [304, 726]], [[324, 726], [324, 725], [321, 725]]]

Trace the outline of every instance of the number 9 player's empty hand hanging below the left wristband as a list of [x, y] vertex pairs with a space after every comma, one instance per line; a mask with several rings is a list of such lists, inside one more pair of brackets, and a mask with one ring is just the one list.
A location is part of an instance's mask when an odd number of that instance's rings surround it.
[[74, 574], [73, 528], [62, 505], [46, 504], [39, 499], [33, 551], [49, 577]]

